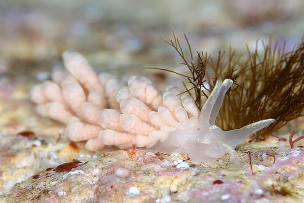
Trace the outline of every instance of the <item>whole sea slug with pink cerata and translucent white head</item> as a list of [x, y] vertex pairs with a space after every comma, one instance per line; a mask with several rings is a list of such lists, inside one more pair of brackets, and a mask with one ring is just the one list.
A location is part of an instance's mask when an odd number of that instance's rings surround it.
[[86, 149], [106, 145], [146, 147], [163, 153], [187, 153], [195, 162], [209, 162], [235, 147], [274, 119], [223, 131], [215, 120], [232, 80], [217, 81], [202, 110], [191, 95], [168, 85], [165, 92], [147, 78], [129, 77], [128, 86], [109, 74], [97, 76], [78, 52], [66, 51], [68, 72], [55, 70], [52, 80], [30, 90], [36, 112], [63, 123], [72, 141], [87, 141]]

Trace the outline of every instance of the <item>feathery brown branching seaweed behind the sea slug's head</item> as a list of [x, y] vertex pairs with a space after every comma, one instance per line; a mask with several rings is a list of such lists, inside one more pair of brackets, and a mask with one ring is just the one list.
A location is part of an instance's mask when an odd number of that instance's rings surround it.
[[[211, 92], [215, 81], [232, 79], [233, 87], [227, 92], [223, 105], [216, 120], [216, 125], [223, 130], [240, 128], [262, 119], [274, 118], [276, 122], [253, 135], [253, 140], [260, 141], [268, 134], [280, 129], [287, 122], [302, 115], [304, 109], [304, 41], [292, 51], [285, 52], [285, 44], [272, 48], [272, 43], [263, 43], [263, 52], [256, 49], [248, 54], [237, 54], [232, 49], [226, 56], [218, 52], [217, 57], [203, 57], [197, 52], [197, 63], [194, 62], [191, 46], [186, 36], [191, 61], [186, 60], [179, 40], [173, 33], [173, 40], [165, 41], [172, 46], [182, 58], [182, 64], [188, 67], [191, 76], [186, 76], [192, 88], [186, 91], [195, 92], [193, 96], [197, 106], [202, 108], [202, 96]], [[204, 86], [207, 82], [210, 88]]]

